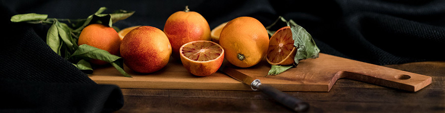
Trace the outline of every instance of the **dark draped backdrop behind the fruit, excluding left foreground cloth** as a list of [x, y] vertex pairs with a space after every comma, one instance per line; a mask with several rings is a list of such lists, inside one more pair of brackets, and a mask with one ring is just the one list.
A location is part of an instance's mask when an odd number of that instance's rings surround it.
[[[322, 53], [373, 64], [444, 60], [444, 0], [28, 0], [3, 1], [12, 14], [42, 13], [49, 18], [86, 18], [99, 7], [104, 13], [136, 11], [115, 23], [163, 29], [168, 16], [189, 5], [214, 28], [240, 16], [268, 26], [278, 16], [306, 28]], [[8, 14], [11, 15], [11, 14]], [[6, 16], [9, 17], [9, 16]], [[43, 38], [45, 28], [37, 31]]]

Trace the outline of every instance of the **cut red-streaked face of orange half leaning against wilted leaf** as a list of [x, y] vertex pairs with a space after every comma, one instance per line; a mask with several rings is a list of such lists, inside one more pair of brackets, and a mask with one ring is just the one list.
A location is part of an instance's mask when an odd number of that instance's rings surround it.
[[291, 53], [294, 48], [294, 40], [290, 28], [277, 31], [269, 42], [267, 59], [273, 63], [278, 63]]

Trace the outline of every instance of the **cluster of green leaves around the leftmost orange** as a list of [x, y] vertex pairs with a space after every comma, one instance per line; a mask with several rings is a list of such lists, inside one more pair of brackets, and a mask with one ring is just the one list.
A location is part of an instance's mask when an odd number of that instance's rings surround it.
[[[83, 28], [90, 24], [102, 24], [113, 27], [112, 24], [124, 20], [134, 14], [135, 11], [117, 10], [111, 14], [101, 14], [106, 7], [100, 7], [99, 10], [88, 16], [86, 19], [56, 19], [48, 18], [46, 14], [18, 14], [11, 17], [11, 22], [26, 22], [30, 24], [52, 24], [47, 34], [48, 46], [57, 53], [70, 61], [74, 66], [85, 74], [92, 74], [89, 59], [99, 59], [111, 63], [123, 76], [131, 77], [124, 71], [123, 59], [111, 55], [105, 50], [101, 50], [89, 45], [77, 45], [77, 40]], [[67, 22], [67, 24], [62, 23]], [[70, 26], [68, 26], [70, 25]], [[114, 29], [118, 29], [113, 27]], [[73, 63], [74, 62], [74, 63]]]

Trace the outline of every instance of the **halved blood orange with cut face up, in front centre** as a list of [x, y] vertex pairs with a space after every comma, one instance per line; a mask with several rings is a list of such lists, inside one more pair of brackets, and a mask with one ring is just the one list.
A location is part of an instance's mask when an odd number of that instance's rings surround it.
[[215, 73], [224, 60], [224, 49], [212, 41], [192, 41], [182, 45], [179, 51], [184, 67], [196, 76]]

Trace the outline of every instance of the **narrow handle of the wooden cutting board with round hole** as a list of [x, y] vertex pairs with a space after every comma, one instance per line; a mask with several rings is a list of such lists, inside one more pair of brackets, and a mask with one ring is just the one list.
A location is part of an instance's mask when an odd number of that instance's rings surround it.
[[366, 82], [374, 85], [388, 86], [407, 91], [416, 92], [423, 87], [430, 85], [432, 78], [420, 74], [410, 73], [406, 71], [396, 70], [392, 68], [377, 69], [369, 71], [338, 71], [338, 78], [351, 79]]

